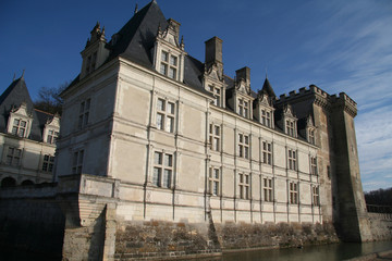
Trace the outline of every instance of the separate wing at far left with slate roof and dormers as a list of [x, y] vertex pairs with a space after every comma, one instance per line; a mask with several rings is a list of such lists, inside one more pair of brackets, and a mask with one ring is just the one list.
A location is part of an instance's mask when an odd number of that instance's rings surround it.
[[1, 187], [53, 179], [60, 117], [33, 108], [22, 76], [0, 96]]

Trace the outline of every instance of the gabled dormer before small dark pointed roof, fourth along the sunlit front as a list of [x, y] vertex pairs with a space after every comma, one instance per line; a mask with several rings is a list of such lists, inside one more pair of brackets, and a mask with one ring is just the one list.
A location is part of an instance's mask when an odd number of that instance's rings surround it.
[[266, 77], [262, 89], [257, 92], [257, 99], [254, 101], [254, 115], [262, 125], [270, 128], [274, 128], [274, 99], [273, 89]]

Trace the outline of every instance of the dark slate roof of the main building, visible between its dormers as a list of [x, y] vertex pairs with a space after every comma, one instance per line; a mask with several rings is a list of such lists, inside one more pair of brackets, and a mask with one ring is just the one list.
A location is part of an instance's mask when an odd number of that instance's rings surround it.
[[[158, 7], [157, 2], [155, 0], [149, 2], [142, 10], [136, 12], [132, 18], [117, 34], [114, 34], [112, 39], [107, 44], [106, 48], [110, 50], [110, 54], [106, 62], [121, 57], [149, 70], [155, 70], [152, 55], [158, 28], [160, 27], [161, 30], [166, 30], [168, 25], [168, 21]], [[201, 79], [204, 72], [205, 65], [203, 62], [191, 55], [185, 55], [183, 83], [203, 94], [212, 97], [210, 92], [203, 88]], [[229, 90], [226, 98], [230, 98], [232, 95], [232, 89], [235, 86], [235, 80], [226, 75], [223, 76], [224, 83], [226, 84], [226, 90]], [[78, 82], [79, 75], [76, 76], [69, 88]], [[277, 97], [267, 77], [260, 91], [267, 92], [269, 97]], [[256, 98], [257, 94], [252, 90], [250, 96]], [[226, 105], [229, 111], [233, 111], [229, 104]], [[281, 116], [280, 113], [281, 111], [278, 108], [275, 111], [275, 116], [278, 119]], [[275, 126], [275, 130], [283, 132], [278, 125]]]

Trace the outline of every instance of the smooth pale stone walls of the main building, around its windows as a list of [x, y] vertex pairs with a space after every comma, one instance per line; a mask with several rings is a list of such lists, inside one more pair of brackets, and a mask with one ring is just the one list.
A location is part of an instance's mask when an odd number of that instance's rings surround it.
[[[321, 222], [313, 206], [309, 156], [317, 148], [235, 113], [211, 105], [211, 98], [126, 61], [106, 74], [86, 77], [68, 94], [62, 119], [58, 175], [71, 174], [72, 151], [83, 148], [83, 173], [120, 179], [117, 214], [124, 220], [204, 222]], [[110, 73], [109, 73], [110, 72]], [[91, 99], [89, 125], [76, 130], [79, 103]], [[157, 101], [174, 105], [173, 132], [157, 126]], [[209, 146], [209, 124], [220, 126], [220, 151]], [[238, 157], [238, 134], [249, 137], [248, 159]], [[272, 144], [272, 164], [264, 164], [262, 141]], [[297, 170], [287, 170], [287, 148], [297, 151]], [[154, 185], [155, 152], [173, 157], [170, 188]], [[220, 170], [219, 192], [209, 195], [209, 169]], [[249, 197], [240, 197], [238, 174], [249, 175]], [[273, 181], [272, 202], [264, 198], [265, 177]], [[298, 203], [290, 204], [290, 182]]]

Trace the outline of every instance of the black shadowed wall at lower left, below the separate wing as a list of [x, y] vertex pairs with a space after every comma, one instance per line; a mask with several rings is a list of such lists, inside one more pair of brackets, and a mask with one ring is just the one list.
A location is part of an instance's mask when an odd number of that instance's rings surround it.
[[64, 215], [51, 185], [0, 189], [0, 248], [61, 259]]

